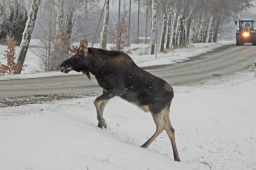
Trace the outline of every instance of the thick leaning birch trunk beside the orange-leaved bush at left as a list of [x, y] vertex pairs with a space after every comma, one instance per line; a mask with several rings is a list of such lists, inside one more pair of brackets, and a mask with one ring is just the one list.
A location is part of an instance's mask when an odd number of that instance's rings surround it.
[[[29, 48], [29, 42], [31, 39], [31, 34], [34, 30], [35, 19], [36, 19], [37, 13], [38, 13], [39, 4], [40, 4], [40, 0], [33, 0], [30, 11], [29, 11], [29, 17], [28, 17], [28, 20], [26, 22], [26, 27], [23, 32], [22, 40], [20, 43], [20, 49], [17, 54], [17, 64], [20, 65], [21, 67], [23, 66], [23, 63], [26, 58], [26, 53]], [[21, 72], [21, 70], [19, 71], [19, 74], [20, 74], [20, 72]]]

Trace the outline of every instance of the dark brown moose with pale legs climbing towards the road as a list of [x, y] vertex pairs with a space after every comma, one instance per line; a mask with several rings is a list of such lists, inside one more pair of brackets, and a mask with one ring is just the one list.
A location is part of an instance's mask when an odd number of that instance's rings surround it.
[[77, 71], [90, 79], [93, 74], [103, 94], [96, 98], [98, 127], [107, 128], [103, 111], [108, 100], [114, 96], [138, 106], [145, 112], [151, 112], [156, 131], [141, 147], [147, 148], [157, 136], [165, 130], [171, 140], [175, 161], [180, 161], [175, 142], [175, 130], [172, 127], [169, 110], [174, 96], [171, 85], [165, 80], [143, 70], [122, 51], [108, 51], [88, 48], [87, 40], [80, 41], [79, 47], [69, 48], [73, 56], [61, 63], [61, 72]]

